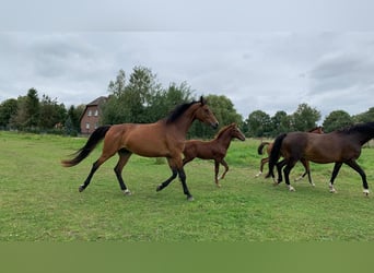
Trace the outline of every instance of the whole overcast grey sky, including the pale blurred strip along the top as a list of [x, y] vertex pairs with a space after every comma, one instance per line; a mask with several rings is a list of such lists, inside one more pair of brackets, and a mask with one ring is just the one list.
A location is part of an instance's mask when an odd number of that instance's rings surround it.
[[87, 104], [108, 95], [120, 69], [142, 66], [164, 87], [225, 95], [244, 118], [303, 103], [323, 117], [374, 107], [371, 1], [60, 2], [1, 9], [0, 102], [34, 87], [67, 107]]

